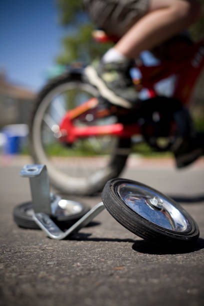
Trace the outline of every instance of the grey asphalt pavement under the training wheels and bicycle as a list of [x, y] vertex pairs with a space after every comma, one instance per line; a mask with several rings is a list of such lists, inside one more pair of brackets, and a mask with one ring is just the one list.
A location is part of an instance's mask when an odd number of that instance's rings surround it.
[[[0, 305], [204, 304], [203, 159], [178, 171], [171, 160], [137, 158], [122, 173], [166, 193], [191, 214], [200, 238], [187, 250], [150, 244], [106, 210], [66, 240], [19, 228], [12, 210], [31, 199], [28, 178], [19, 177], [26, 163], [0, 159]], [[93, 207], [100, 194], [68, 198]]]

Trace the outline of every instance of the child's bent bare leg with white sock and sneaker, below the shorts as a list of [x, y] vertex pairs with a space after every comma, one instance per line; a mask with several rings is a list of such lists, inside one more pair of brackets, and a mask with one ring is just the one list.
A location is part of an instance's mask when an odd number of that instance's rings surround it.
[[[145, 15], [135, 19], [115, 46], [103, 55], [98, 67], [85, 69], [87, 78], [113, 104], [123, 107], [139, 104], [129, 74], [131, 60], [188, 27], [199, 10], [197, 0], [149, 0]], [[105, 29], [109, 27], [106, 24]]]

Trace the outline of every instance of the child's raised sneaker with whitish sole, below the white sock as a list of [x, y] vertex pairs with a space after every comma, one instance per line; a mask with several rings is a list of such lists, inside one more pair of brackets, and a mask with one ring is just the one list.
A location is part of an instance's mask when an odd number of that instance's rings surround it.
[[108, 63], [101, 60], [96, 68], [87, 66], [84, 72], [103, 98], [117, 106], [132, 108], [137, 104], [138, 94], [129, 73], [131, 66], [132, 61], [129, 60]]

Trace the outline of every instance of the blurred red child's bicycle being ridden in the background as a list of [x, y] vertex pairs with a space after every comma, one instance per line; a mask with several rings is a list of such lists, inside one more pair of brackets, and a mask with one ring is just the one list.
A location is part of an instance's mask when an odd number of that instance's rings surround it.
[[[188, 114], [176, 121], [174, 113], [188, 105], [204, 66], [204, 39], [193, 43], [183, 36], [180, 41], [168, 46], [168, 59], [157, 65], [137, 60], [141, 77], [133, 82], [148, 94], [139, 111], [101, 99], [81, 66], [69, 66], [42, 88], [29, 124], [29, 143], [34, 161], [46, 164], [54, 187], [80, 195], [101, 190], [124, 168], [135, 135], [142, 135], [155, 150], [172, 149], [179, 120], [190, 124]], [[170, 75], [176, 75], [172, 96], [159, 96], [155, 84]]]

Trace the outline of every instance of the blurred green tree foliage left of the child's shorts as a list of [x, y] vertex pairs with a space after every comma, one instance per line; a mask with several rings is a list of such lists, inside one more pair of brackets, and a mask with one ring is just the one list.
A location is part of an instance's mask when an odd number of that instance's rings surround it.
[[93, 41], [91, 33], [94, 25], [83, 10], [81, 0], [57, 0], [57, 4], [61, 24], [72, 29], [62, 40], [63, 50], [56, 59], [59, 64], [77, 60], [88, 63], [112, 45]]

